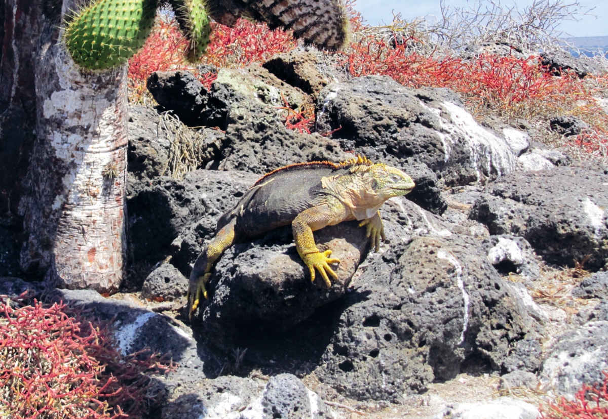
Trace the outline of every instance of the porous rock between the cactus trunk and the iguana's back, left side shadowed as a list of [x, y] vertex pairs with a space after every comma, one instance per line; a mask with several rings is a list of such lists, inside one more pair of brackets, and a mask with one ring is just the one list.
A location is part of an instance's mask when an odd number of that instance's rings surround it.
[[[198, 170], [183, 180], [160, 177], [127, 200], [128, 243], [133, 261], [157, 262], [171, 243], [201, 219], [215, 231], [219, 217], [258, 179], [246, 172]], [[189, 274], [189, 273], [184, 273]]]

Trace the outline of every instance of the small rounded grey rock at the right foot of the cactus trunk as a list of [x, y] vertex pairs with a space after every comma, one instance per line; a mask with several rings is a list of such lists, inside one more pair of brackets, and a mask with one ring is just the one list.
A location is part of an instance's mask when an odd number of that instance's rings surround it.
[[188, 279], [173, 265], [162, 264], [143, 282], [141, 298], [174, 301], [188, 292]]

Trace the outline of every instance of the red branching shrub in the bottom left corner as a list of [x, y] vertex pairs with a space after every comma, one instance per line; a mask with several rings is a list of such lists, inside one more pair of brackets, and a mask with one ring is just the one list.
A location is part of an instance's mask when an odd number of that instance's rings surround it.
[[148, 373], [171, 363], [150, 353], [122, 357], [108, 335], [65, 304], [0, 299], [0, 417], [142, 415], [154, 401]]

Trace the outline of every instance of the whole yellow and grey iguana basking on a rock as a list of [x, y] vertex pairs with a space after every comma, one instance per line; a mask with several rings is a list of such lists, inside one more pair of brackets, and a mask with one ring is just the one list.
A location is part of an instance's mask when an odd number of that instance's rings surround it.
[[407, 194], [412, 179], [399, 169], [371, 163], [365, 157], [343, 163], [313, 162], [285, 166], [270, 172], [249, 188], [237, 205], [218, 221], [215, 237], [196, 259], [190, 274], [188, 306], [198, 307], [201, 294], [207, 298], [206, 284], [213, 263], [235, 242], [254, 238], [291, 224], [295, 247], [314, 281], [319, 271], [331, 287], [337, 279], [330, 264], [331, 250], [319, 251], [313, 231], [343, 221], [361, 220], [367, 236], [379, 249], [384, 226], [379, 208], [389, 198]]

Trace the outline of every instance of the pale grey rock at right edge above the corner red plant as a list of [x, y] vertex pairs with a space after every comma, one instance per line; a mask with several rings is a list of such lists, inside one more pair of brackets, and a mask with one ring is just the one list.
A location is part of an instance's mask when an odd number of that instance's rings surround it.
[[558, 336], [539, 377], [558, 395], [573, 398], [582, 384], [602, 383], [607, 369], [608, 321], [595, 321]]

